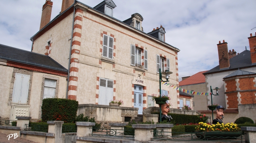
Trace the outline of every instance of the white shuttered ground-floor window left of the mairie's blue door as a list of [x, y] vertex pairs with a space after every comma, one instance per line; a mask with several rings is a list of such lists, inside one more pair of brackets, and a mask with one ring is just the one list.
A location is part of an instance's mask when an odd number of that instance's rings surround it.
[[106, 78], [100, 78], [99, 87], [99, 105], [109, 105], [109, 101], [113, 100], [114, 81]]

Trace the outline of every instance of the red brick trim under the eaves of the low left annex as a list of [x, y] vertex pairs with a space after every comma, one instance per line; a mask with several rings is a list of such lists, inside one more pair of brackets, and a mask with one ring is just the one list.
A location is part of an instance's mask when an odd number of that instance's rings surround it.
[[16, 67], [16, 68], [34, 70], [34, 71], [39, 71], [42, 73], [48, 73], [48, 74], [59, 75], [59, 76], [68, 76], [68, 72], [65, 72], [65, 71], [59, 71], [59, 70], [48, 69], [48, 68], [43, 68], [43, 67], [38, 67], [38, 66], [33, 66], [33, 65], [27, 65], [24, 63], [19, 63], [19, 62], [14, 62], [14, 61], [9, 61], [9, 60], [7, 60], [6, 64], [7, 64], [7, 66]]

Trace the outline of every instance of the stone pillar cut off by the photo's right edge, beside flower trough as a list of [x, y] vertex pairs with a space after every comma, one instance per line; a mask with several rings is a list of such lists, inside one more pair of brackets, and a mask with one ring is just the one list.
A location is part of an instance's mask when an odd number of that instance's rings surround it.
[[247, 143], [256, 143], [256, 127], [241, 127], [244, 131], [244, 138]]

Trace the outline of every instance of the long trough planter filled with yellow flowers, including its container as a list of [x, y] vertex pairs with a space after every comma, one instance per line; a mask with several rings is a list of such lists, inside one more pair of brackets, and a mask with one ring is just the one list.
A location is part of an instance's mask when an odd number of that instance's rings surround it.
[[204, 139], [204, 138], [227, 138], [227, 137], [239, 137], [242, 135], [242, 131], [239, 127], [237, 127], [234, 123], [217, 123], [210, 125], [209, 123], [198, 123], [199, 125], [195, 127], [196, 137]]

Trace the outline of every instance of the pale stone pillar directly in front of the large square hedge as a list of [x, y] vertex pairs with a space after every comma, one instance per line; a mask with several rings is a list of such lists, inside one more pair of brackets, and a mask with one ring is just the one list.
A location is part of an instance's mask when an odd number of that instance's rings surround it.
[[54, 143], [61, 143], [62, 124], [63, 121], [47, 121], [48, 133], [54, 134]]

